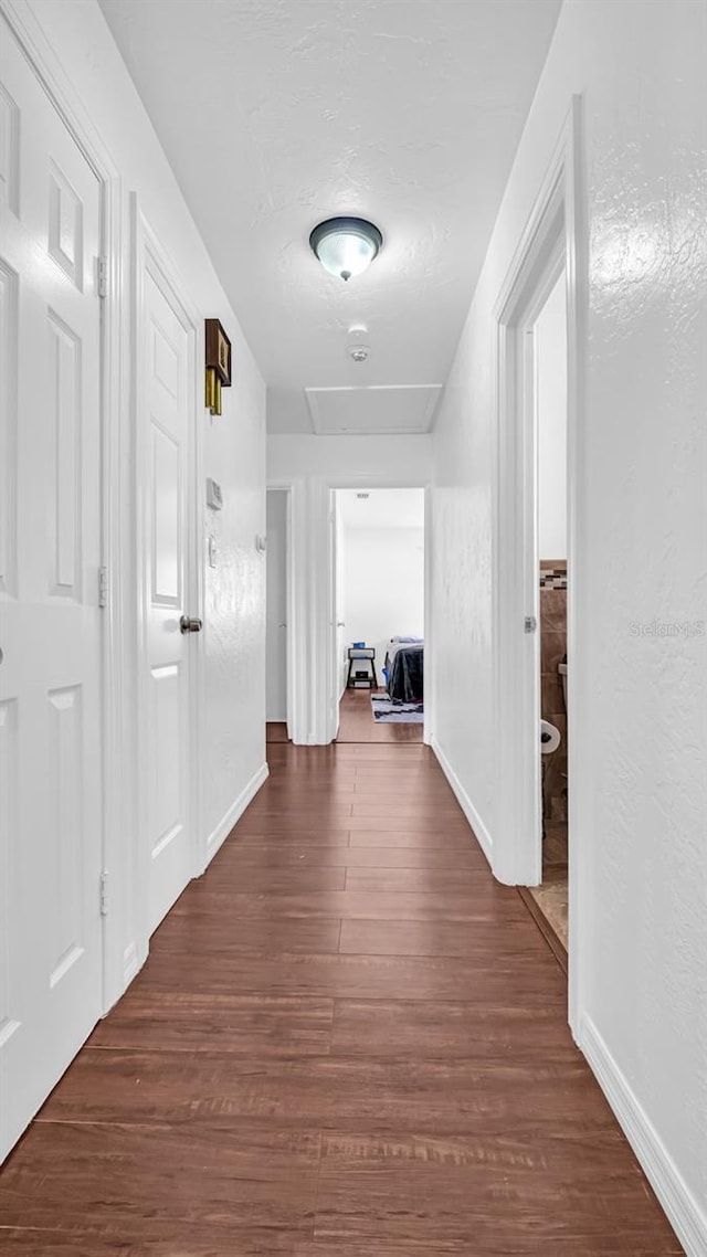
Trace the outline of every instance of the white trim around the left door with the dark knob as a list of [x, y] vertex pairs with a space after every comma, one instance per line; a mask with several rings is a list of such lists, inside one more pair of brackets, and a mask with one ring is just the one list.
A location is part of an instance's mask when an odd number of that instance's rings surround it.
[[[146, 691], [145, 691], [145, 657], [146, 657], [146, 640], [145, 631], [147, 623], [147, 607], [145, 605], [145, 579], [143, 579], [143, 554], [146, 544], [146, 518], [145, 518], [145, 504], [146, 504], [146, 485], [142, 483], [143, 475], [143, 459], [141, 456], [141, 440], [140, 440], [140, 425], [141, 425], [141, 406], [142, 406], [142, 387], [145, 380], [145, 275], [148, 273], [155, 280], [157, 288], [170, 303], [175, 314], [180, 319], [182, 327], [189, 336], [189, 371], [194, 382], [194, 396], [192, 406], [190, 407], [192, 422], [190, 424], [190, 449], [189, 449], [189, 463], [192, 469], [191, 484], [187, 488], [189, 497], [189, 553], [187, 553], [187, 571], [190, 573], [190, 586], [194, 588], [192, 601], [189, 607], [184, 607], [184, 613], [189, 616], [198, 616], [204, 620], [204, 551], [205, 551], [205, 520], [204, 510], [201, 509], [201, 493], [200, 486], [203, 484], [203, 419], [205, 414], [204, 406], [204, 393], [203, 393], [203, 376], [199, 371], [199, 363], [204, 361], [204, 331], [203, 321], [199, 317], [196, 308], [192, 305], [190, 298], [184, 293], [184, 289], [177, 279], [176, 268], [172, 265], [171, 260], [161, 248], [157, 241], [155, 233], [152, 231], [150, 224], [142, 215], [138, 205], [138, 197], [133, 192], [131, 194], [131, 221], [132, 221], [132, 255], [133, 255], [133, 313], [132, 313], [132, 332], [133, 332], [133, 352], [132, 352], [132, 421], [133, 421], [133, 500], [135, 500], [135, 573], [137, 574], [136, 582], [136, 657], [137, 657], [137, 686], [136, 686], [136, 706], [137, 706], [137, 729], [135, 738], [135, 753], [136, 753], [136, 797], [137, 797], [137, 823], [136, 831], [137, 838], [137, 880], [133, 882], [135, 895], [138, 896], [138, 921], [140, 921], [140, 953], [142, 958], [148, 952], [148, 904], [147, 904], [147, 887], [150, 884], [148, 877], [148, 861], [147, 861], [147, 842], [143, 832], [145, 817], [146, 817], [146, 796], [145, 796], [145, 778], [140, 771], [140, 764], [146, 763], [146, 744], [145, 744], [145, 711], [146, 711]], [[206, 626], [205, 630], [206, 631]], [[208, 840], [201, 823], [203, 816], [203, 764], [201, 764], [201, 747], [204, 744], [203, 738], [203, 722], [204, 722], [204, 651], [203, 637], [199, 639], [199, 649], [191, 652], [190, 665], [189, 665], [189, 727], [191, 729], [190, 739], [190, 754], [189, 754], [189, 823], [191, 827], [191, 857], [190, 857], [190, 876], [199, 876], [206, 864], [209, 862], [210, 854], [208, 851]]]

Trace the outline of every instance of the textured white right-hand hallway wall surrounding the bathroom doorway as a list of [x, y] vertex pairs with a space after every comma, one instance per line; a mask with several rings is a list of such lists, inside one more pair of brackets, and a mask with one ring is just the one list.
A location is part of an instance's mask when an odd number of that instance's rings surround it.
[[[437, 744], [493, 833], [493, 309], [581, 93], [575, 1032], [693, 1254], [707, 1252], [706, 45], [702, 0], [565, 0], [442, 402], [431, 598]], [[693, 635], [640, 632], [654, 621]]]

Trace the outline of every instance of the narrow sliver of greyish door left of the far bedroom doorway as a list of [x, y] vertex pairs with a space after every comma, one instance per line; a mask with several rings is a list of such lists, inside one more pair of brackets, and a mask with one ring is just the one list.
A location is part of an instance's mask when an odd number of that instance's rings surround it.
[[287, 720], [287, 508], [288, 494], [267, 494], [265, 719]]

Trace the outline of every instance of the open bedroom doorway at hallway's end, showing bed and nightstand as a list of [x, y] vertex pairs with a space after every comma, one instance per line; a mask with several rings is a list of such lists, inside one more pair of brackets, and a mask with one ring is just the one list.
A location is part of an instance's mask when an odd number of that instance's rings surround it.
[[337, 742], [424, 740], [425, 490], [332, 490]]

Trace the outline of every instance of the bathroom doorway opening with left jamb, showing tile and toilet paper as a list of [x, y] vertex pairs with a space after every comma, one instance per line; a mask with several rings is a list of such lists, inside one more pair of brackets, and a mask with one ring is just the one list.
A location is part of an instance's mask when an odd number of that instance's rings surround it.
[[[562, 206], [515, 277], [502, 354], [497, 503], [498, 777], [494, 872], [567, 969], [569, 336]], [[562, 667], [562, 671], [560, 670]], [[503, 862], [502, 862], [503, 861]]]

